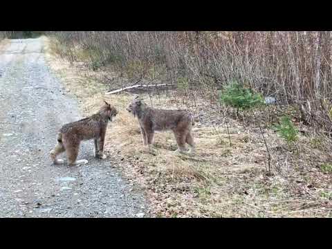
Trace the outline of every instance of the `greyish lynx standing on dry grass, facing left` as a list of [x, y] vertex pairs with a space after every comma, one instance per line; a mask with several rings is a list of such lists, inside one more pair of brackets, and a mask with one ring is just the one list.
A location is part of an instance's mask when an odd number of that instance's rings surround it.
[[178, 152], [185, 152], [185, 143], [194, 152], [192, 126], [194, 117], [192, 113], [183, 110], [163, 110], [148, 107], [142, 100], [134, 99], [127, 107], [129, 113], [138, 118], [143, 138], [143, 145], [151, 145], [154, 140], [154, 131], [172, 130], [178, 144]]

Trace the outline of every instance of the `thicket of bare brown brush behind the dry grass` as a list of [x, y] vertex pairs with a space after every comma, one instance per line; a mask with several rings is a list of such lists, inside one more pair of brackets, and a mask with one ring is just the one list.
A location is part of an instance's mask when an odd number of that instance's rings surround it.
[[[59, 53], [129, 80], [175, 84], [185, 95], [218, 103], [238, 82], [298, 107], [306, 124], [332, 129], [331, 32], [50, 32]], [[192, 98], [194, 101], [194, 98]]]

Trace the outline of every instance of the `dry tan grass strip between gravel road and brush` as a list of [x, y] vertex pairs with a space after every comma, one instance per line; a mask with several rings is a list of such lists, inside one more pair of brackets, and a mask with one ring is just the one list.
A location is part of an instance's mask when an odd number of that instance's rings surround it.
[[[176, 142], [170, 132], [156, 133], [155, 145], [148, 149], [142, 146], [137, 120], [125, 110], [133, 95], [104, 95], [103, 84], [86, 80], [77, 67], [52, 55], [51, 43], [47, 44], [51, 68], [62, 77], [66, 89], [82, 101], [86, 115], [96, 111], [103, 100], [118, 108], [119, 114], [107, 131], [105, 149], [130, 181], [145, 188], [152, 216], [331, 216], [331, 175], [308, 163], [329, 159], [320, 154], [320, 148], [303, 147], [304, 155], [310, 151], [315, 157], [297, 158], [284, 149], [275, 133], [266, 131], [275, 165], [275, 174], [268, 175], [261, 135], [232, 120], [232, 147], [224, 125], [218, 130], [197, 122], [193, 129], [196, 154], [175, 154]], [[147, 95], [143, 98], [150, 102]], [[152, 96], [151, 101], [155, 107], [176, 109], [165, 95], [158, 100]], [[301, 139], [308, 143], [308, 139]], [[318, 144], [315, 142], [316, 147]]]

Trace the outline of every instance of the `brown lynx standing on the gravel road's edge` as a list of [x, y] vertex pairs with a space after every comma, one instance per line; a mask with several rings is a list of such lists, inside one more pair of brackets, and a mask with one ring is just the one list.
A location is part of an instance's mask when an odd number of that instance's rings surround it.
[[83, 118], [76, 122], [64, 124], [57, 134], [57, 145], [50, 151], [50, 158], [53, 163], [64, 163], [64, 160], [57, 159], [57, 155], [66, 151], [69, 165], [86, 164], [88, 160], [76, 160], [82, 140], [94, 139], [95, 158], [104, 159], [104, 138], [107, 130], [107, 124], [118, 114], [115, 107], [105, 101], [103, 107], [98, 113], [88, 118]]

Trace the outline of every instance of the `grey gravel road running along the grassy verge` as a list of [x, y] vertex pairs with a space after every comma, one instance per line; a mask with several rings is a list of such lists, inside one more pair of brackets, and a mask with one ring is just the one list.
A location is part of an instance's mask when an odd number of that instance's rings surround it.
[[82, 116], [43, 47], [42, 39], [12, 39], [0, 51], [0, 217], [146, 216], [142, 192], [112, 158], [93, 157], [93, 141], [81, 144], [87, 165], [51, 164], [58, 129]]

